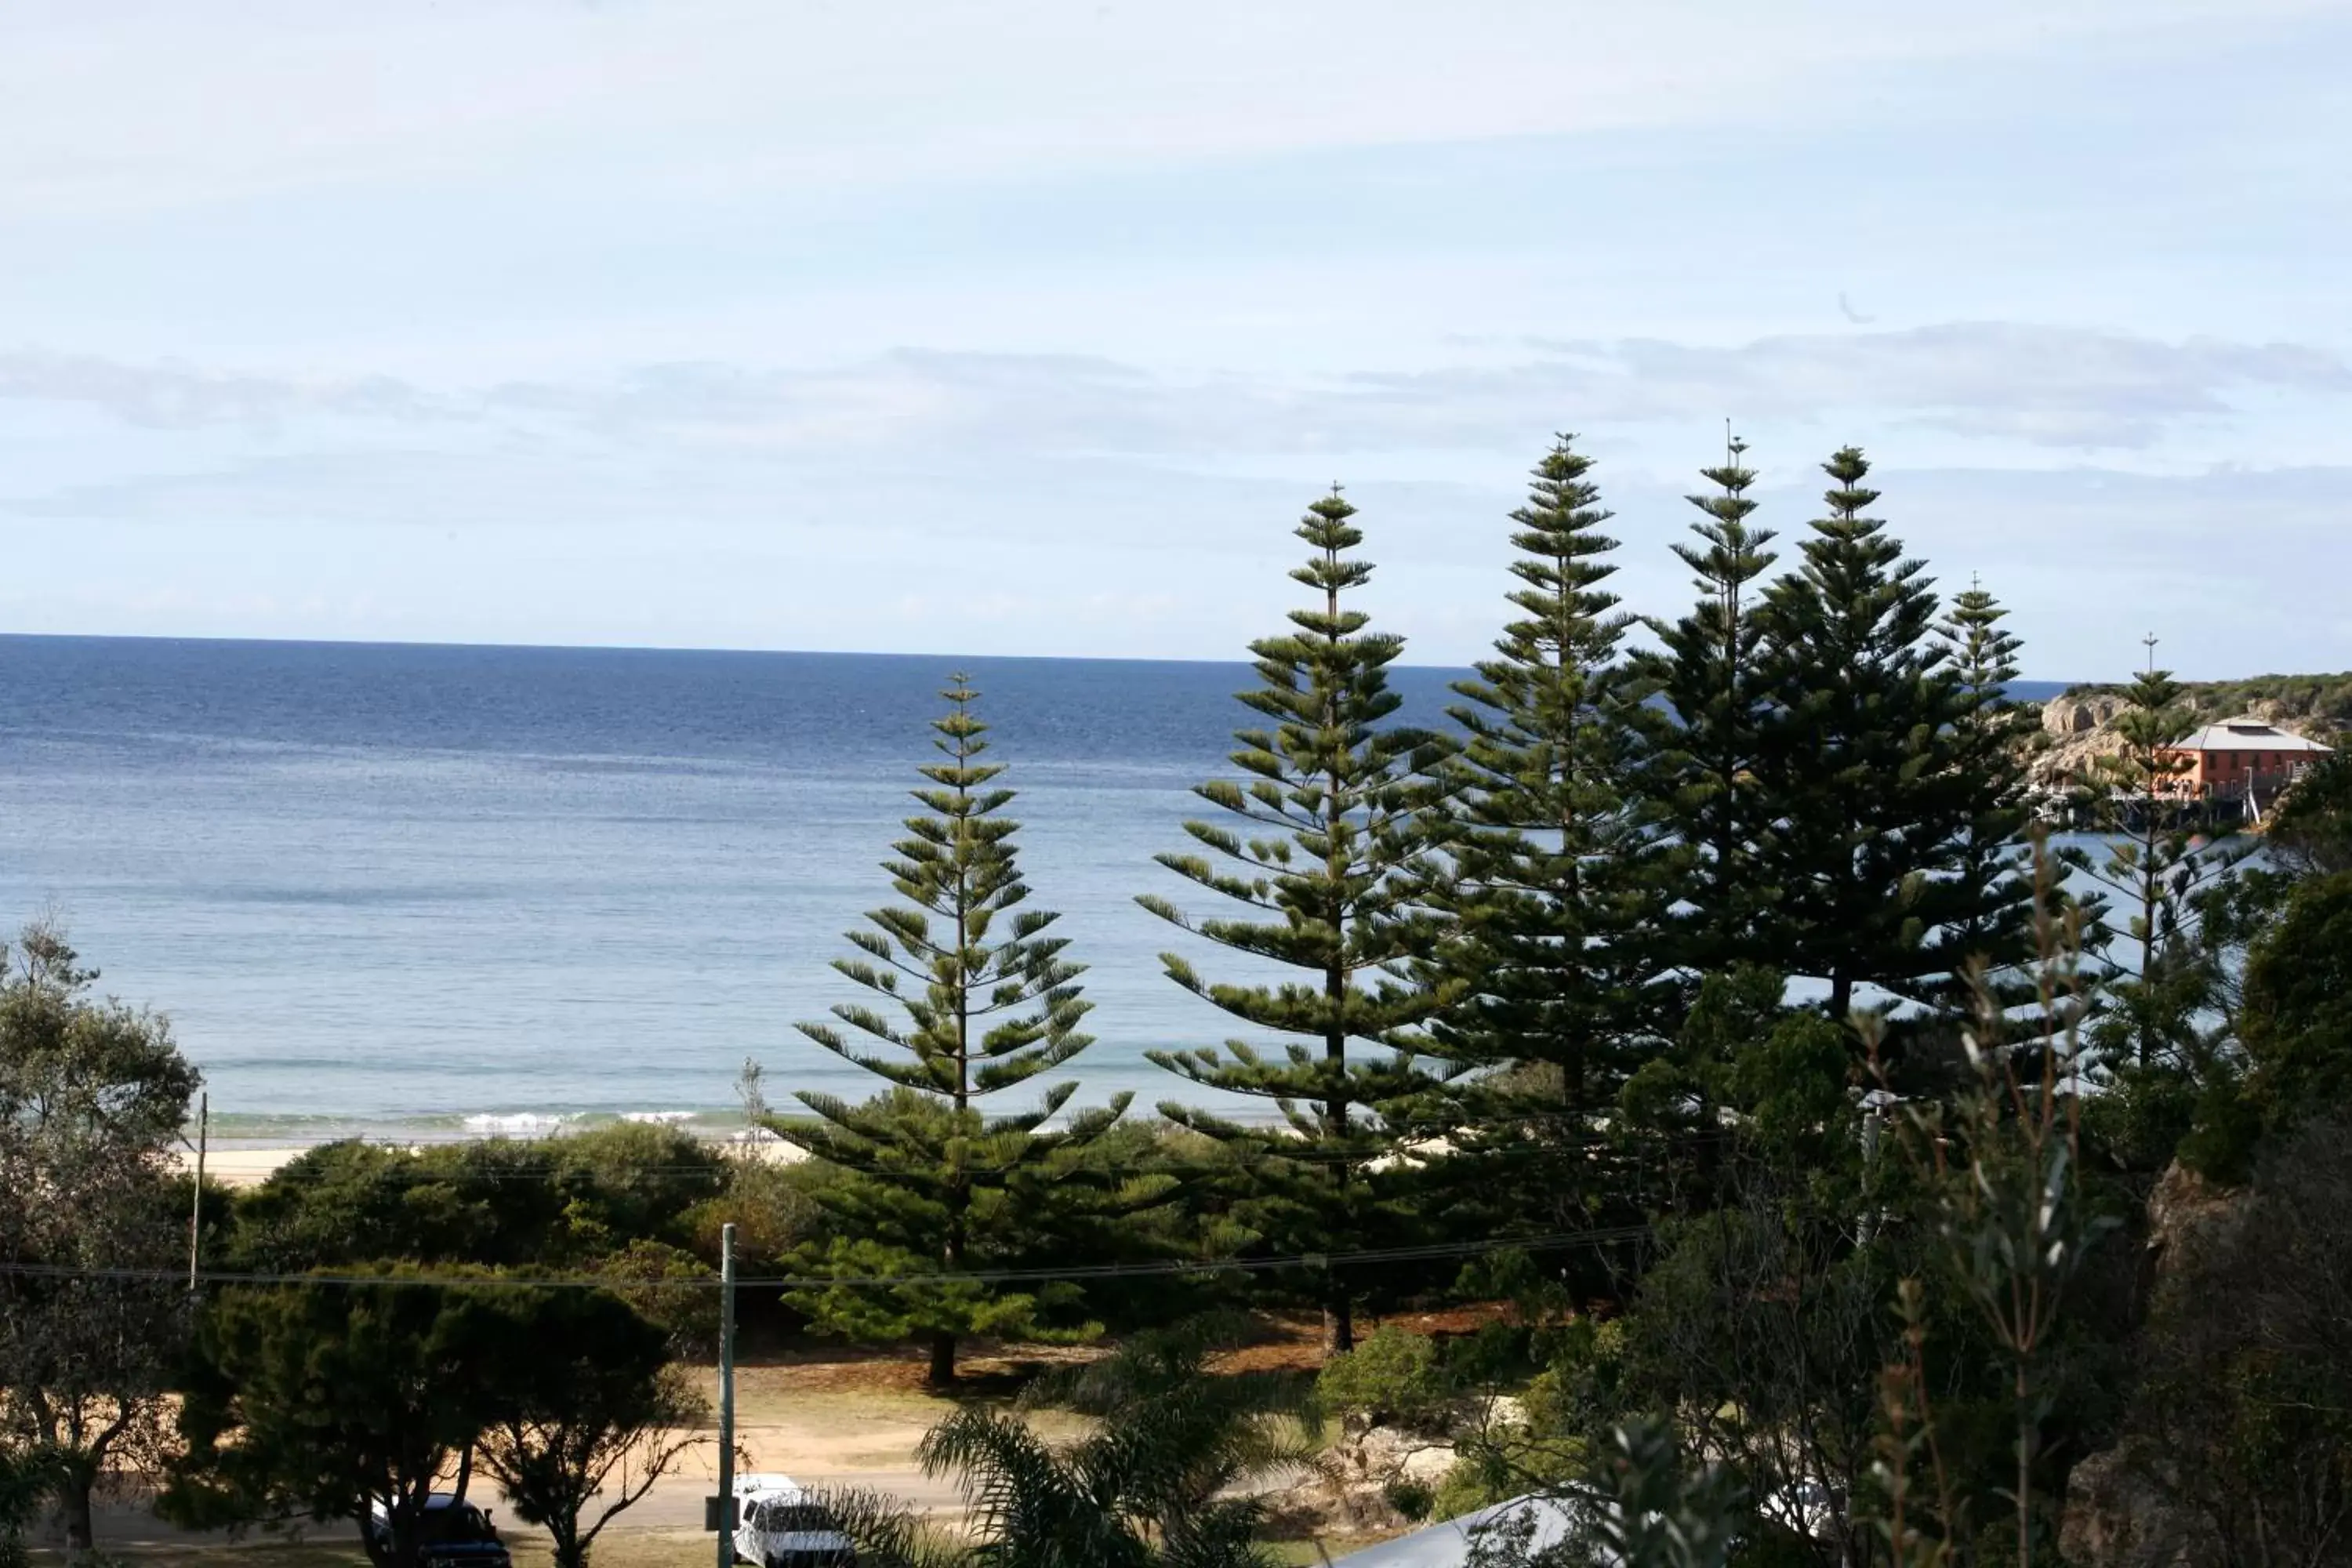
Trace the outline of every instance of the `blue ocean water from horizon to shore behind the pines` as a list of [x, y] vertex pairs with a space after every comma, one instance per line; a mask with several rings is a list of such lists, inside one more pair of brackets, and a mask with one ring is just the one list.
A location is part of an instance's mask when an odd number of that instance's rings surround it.
[[[167, 1013], [223, 1135], [532, 1131], [873, 1079], [793, 1023], [861, 992], [840, 933], [950, 670], [983, 691], [1040, 907], [1089, 964], [1087, 1095], [1197, 1098], [1150, 1046], [1230, 1034], [1134, 896], [1251, 715], [1240, 663], [0, 637], [0, 919], [54, 912]], [[1397, 670], [1437, 722], [1454, 670]], [[2032, 696], [2058, 686], [2032, 686]]]

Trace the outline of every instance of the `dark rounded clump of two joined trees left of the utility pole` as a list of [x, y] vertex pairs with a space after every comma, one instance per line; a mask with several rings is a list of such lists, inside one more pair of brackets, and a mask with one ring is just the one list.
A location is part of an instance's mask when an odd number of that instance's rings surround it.
[[[221, 1291], [200, 1326], [165, 1516], [343, 1519], [369, 1561], [412, 1568], [435, 1481], [473, 1450], [579, 1568], [597, 1530], [696, 1441], [682, 1427], [701, 1401], [670, 1371], [666, 1331], [609, 1293], [445, 1274], [395, 1265], [358, 1284]], [[388, 1540], [365, 1523], [376, 1502]]]

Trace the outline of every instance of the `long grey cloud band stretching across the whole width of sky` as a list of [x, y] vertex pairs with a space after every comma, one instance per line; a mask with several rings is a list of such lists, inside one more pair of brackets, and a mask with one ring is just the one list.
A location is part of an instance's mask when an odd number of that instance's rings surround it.
[[2159, 341], [2079, 327], [1947, 322], [1733, 346], [1531, 339], [1515, 362], [1334, 378], [1160, 374], [1094, 355], [901, 348], [828, 367], [677, 362], [609, 378], [426, 390], [390, 376], [289, 381], [89, 355], [0, 355], [0, 397], [151, 428], [292, 418], [466, 425], [647, 451], [762, 449], [1223, 461], [1392, 449], [1491, 451], [1529, 423], [1583, 430], [1842, 418], [2051, 449], [2145, 449], [2227, 428], [2263, 395], [2343, 397], [2352, 367], [2300, 343]]

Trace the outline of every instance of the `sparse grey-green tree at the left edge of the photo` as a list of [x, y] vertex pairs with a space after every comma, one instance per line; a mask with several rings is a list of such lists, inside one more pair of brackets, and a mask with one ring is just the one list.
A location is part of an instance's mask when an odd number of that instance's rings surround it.
[[52, 926], [0, 952], [0, 1458], [45, 1479], [75, 1559], [92, 1490], [153, 1462], [188, 1338], [186, 1187], [169, 1171], [198, 1072], [153, 1013], [94, 1001]]

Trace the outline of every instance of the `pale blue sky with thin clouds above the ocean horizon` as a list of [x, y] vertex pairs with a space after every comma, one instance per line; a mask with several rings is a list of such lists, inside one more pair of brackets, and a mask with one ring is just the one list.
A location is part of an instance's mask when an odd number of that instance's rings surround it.
[[[0, 0], [0, 630], [1411, 663], [1726, 421], [2025, 672], [2352, 668], [2340, 0]], [[1783, 562], [1788, 555], [1783, 555]]]

